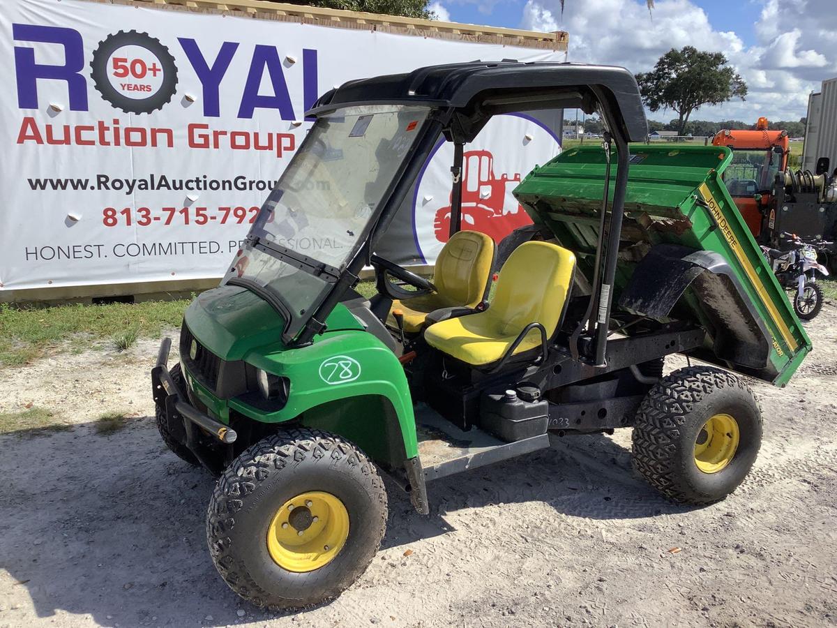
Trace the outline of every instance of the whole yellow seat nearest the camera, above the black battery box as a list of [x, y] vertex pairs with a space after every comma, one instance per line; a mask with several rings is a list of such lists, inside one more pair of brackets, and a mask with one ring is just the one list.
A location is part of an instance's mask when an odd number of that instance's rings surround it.
[[[548, 242], [526, 242], [506, 260], [490, 307], [476, 314], [437, 322], [424, 339], [439, 351], [473, 366], [494, 363], [505, 355], [531, 322], [552, 337], [573, 283], [575, 255]], [[514, 353], [541, 346], [532, 329]]]

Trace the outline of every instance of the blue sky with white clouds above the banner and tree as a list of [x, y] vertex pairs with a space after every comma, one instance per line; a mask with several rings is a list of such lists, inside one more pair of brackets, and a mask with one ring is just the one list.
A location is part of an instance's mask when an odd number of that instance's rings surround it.
[[[697, 120], [798, 120], [811, 90], [837, 76], [837, 0], [436, 0], [439, 18], [529, 30], [565, 30], [569, 60], [651, 69], [660, 54], [693, 45], [727, 55], [747, 100], [701, 107]], [[671, 111], [650, 114], [676, 117]]]

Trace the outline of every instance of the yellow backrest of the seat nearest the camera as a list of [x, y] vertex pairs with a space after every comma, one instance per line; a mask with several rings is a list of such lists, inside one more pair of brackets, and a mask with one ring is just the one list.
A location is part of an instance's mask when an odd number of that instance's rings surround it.
[[552, 337], [573, 284], [573, 251], [549, 242], [526, 242], [509, 255], [486, 311], [498, 335], [516, 335], [539, 322]]

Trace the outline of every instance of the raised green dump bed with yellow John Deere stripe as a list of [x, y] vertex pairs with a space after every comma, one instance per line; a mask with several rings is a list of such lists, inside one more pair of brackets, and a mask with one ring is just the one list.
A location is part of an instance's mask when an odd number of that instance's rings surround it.
[[[634, 146], [631, 150], [614, 304], [651, 246], [669, 243], [714, 251], [727, 260], [742, 286], [740, 296], [752, 303], [770, 335], [767, 340], [773, 348], [767, 368], [747, 370], [747, 374], [779, 385], [787, 383], [810, 351], [811, 342], [721, 180], [732, 151], [711, 146]], [[514, 192], [536, 223], [546, 225], [562, 246], [576, 253], [578, 270], [588, 280], [598, 239], [605, 157], [601, 147], [562, 152], [530, 172]], [[611, 159], [612, 200], [615, 151]], [[693, 322], [704, 325], [701, 299], [688, 290], [680, 301], [677, 311], [689, 312]]]

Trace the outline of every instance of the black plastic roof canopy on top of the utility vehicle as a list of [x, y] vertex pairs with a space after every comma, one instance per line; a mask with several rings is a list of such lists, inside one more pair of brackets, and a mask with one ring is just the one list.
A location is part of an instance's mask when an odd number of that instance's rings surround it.
[[559, 108], [593, 113], [599, 103], [611, 131], [625, 141], [640, 142], [648, 134], [634, 75], [612, 65], [516, 61], [431, 65], [408, 74], [348, 81], [322, 95], [310, 113], [361, 103], [453, 108], [466, 141], [499, 113]]

